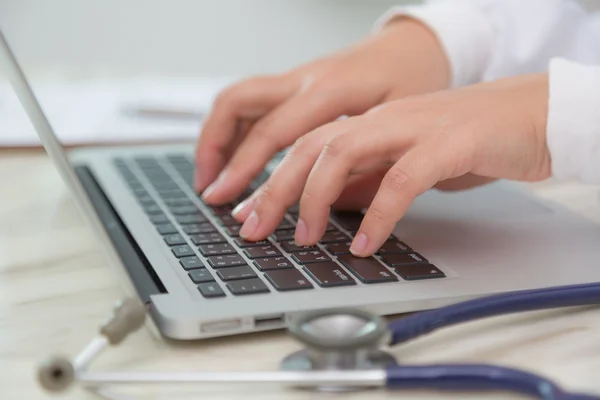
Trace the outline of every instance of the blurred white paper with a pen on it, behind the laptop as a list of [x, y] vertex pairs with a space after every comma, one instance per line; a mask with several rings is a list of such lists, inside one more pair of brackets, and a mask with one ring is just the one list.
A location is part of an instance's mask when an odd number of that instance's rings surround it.
[[[61, 143], [81, 145], [194, 140], [202, 115], [230, 82], [227, 78], [123, 79], [32, 87]], [[1, 82], [0, 146], [38, 145], [21, 103], [8, 82]]]

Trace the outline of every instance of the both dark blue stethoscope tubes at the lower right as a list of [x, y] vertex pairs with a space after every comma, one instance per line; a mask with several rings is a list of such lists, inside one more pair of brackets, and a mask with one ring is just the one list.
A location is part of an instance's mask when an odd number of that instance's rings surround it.
[[[526, 290], [413, 314], [389, 323], [391, 345], [397, 345], [451, 325], [525, 311], [600, 304], [600, 284]], [[492, 365], [391, 365], [386, 386], [395, 389], [498, 390], [543, 400], [592, 400], [597, 396], [568, 393], [552, 381], [517, 369]]]

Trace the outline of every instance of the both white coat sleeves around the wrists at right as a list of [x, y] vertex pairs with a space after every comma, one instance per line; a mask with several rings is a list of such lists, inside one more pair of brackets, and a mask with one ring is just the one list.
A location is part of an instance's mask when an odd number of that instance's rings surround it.
[[452, 87], [549, 72], [547, 139], [558, 179], [600, 183], [600, 13], [575, 0], [425, 0], [392, 8], [437, 36]]

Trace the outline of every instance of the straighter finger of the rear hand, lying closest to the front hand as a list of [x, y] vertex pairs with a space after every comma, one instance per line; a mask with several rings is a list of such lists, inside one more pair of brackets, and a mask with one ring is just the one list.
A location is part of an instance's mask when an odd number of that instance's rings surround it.
[[275, 153], [307, 132], [349, 114], [349, 102], [341, 90], [315, 88], [300, 93], [256, 123], [237, 149], [218, 184], [204, 194], [208, 203], [237, 197]]

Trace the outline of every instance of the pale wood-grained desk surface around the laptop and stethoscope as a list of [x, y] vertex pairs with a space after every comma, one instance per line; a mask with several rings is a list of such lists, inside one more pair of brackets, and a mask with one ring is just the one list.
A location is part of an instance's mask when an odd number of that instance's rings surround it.
[[[0, 398], [47, 399], [34, 380], [49, 353], [74, 355], [121, 296], [116, 277], [58, 174], [41, 152], [0, 152]], [[600, 188], [532, 185], [600, 223]], [[576, 267], [576, 266], [573, 266]], [[535, 371], [565, 387], [600, 393], [600, 313], [575, 308], [498, 317], [449, 328], [394, 354], [405, 363], [489, 362]], [[268, 371], [298, 345], [283, 331], [195, 343], [158, 341], [147, 331], [98, 360], [98, 369]], [[278, 386], [131, 388], [148, 399], [315, 399]], [[506, 394], [360, 392], [340, 398], [507, 399]], [[332, 398], [335, 396], [323, 396]], [[95, 398], [78, 388], [65, 399]]]

